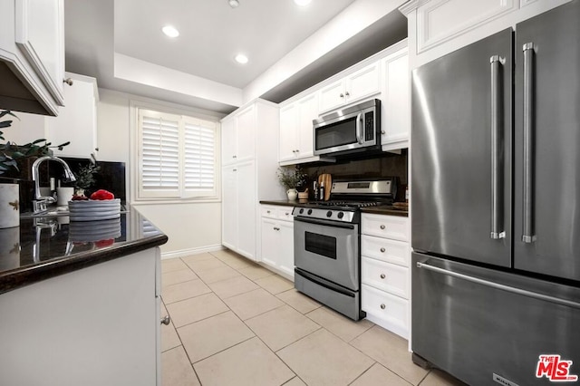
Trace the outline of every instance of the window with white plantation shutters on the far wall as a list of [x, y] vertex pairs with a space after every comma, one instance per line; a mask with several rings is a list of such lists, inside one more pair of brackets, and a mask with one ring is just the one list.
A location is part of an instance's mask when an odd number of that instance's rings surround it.
[[217, 122], [139, 109], [139, 198], [217, 196]]

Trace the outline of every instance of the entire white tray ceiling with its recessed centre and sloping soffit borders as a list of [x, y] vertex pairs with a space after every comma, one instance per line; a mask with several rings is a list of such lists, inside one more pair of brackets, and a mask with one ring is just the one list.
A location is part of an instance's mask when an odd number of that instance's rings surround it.
[[[406, 19], [396, 11], [402, 1], [239, 2], [231, 8], [227, 0], [65, 0], [66, 70], [96, 77], [103, 88], [227, 113], [247, 89], [281, 101], [406, 36]], [[167, 24], [179, 37], [161, 33]], [[237, 53], [249, 63], [236, 63]], [[295, 57], [302, 61], [295, 71], [282, 76], [276, 70], [271, 86], [258, 82], [272, 68], [295, 64]], [[170, 82], [162, 78], [189, 87], [164, 86]], [[197, 92], [208, 88], [217, 92]]]

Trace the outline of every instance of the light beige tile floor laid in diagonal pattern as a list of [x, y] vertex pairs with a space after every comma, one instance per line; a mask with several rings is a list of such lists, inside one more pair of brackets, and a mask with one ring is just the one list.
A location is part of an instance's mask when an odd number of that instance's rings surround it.
[[408, 343], [353, 322], [228, 251], [161, 262], [161, 380], [190, 385], [462, 385], [411, 361]]

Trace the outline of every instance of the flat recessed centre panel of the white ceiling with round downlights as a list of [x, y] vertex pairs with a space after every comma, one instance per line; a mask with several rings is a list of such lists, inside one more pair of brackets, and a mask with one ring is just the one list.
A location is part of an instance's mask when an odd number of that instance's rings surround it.
[[[244, 88], [354, 0], [122, 0], [115, 2], [115, 52]], [[139, 12], [135, 12], [139, 9]], [[177, 38], [161, 33], [171, 24]], [[234, 61], [245, 53], [249, 63]]]

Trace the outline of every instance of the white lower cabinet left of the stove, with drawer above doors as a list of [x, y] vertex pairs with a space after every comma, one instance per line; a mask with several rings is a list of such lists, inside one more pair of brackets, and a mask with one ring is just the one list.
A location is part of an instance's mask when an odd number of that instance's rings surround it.
[[292, 207], [261, 207], [262, 263], [294, 279], [294, 218]]

